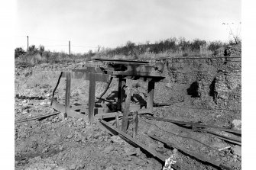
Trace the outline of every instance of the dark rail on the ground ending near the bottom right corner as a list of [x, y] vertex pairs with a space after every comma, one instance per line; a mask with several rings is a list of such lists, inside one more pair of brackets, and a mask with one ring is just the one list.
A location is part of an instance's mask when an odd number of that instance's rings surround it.
[[195, 159], [198, 159], [200, 162], [206, 162], [207, 164], [212, 165], [212, 166], [217, 167], [217, 168], [232, 169], [232, 168], [230, 168], [226, 165], [222, 165], [220, 162], [215, 162], [213, 160], [207, 159], [206, 156], [201, 156], [201, 155], [199, 155], [195, 152], [191, 152], [189, 150], [182, 149], [180, 146], [177, 146], [174, 143], [170, 143], [169, 141], [161, 139], [160, 137], [157, 137], [155, 135], [147, 134], [147, 136], [150, 136], [152, 139], [158, 140], [161, 143], [165, 143], [167, 146], [170, 146], [172, 148], [176, 148], [176, 149], [180, 150], [180, 152], [183, 152], [186, 155], [189, 155], [189, 156], [192, 156]]

